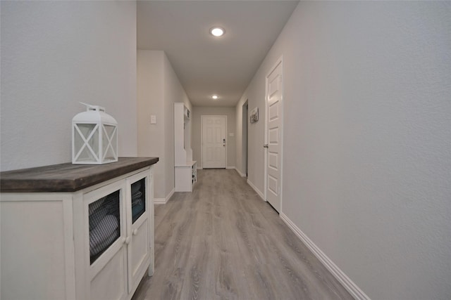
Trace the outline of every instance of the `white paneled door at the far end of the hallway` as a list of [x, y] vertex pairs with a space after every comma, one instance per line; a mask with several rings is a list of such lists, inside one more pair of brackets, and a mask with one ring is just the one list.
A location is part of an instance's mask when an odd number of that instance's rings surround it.
[[202, 168], [226, 168], [226, 116], [202, 116]]

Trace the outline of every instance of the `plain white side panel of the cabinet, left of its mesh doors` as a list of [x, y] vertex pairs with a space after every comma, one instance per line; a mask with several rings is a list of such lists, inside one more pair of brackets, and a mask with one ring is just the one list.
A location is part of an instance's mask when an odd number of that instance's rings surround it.
[[2, 199], [0, 205], [0, 298], [70, 297], [66, 294], [68, 266], [63, 242], [70, 237], [64, 235], [63, 201], [25, 199], [11, 202]]

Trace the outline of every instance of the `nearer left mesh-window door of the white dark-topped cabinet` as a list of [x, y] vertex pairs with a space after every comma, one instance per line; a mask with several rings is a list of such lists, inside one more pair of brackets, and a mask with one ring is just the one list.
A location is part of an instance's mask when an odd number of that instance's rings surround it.
[[86, 294], [81, 299], [125, 299], [127, 287], [127, 214], [124, 180], [83, 195]]

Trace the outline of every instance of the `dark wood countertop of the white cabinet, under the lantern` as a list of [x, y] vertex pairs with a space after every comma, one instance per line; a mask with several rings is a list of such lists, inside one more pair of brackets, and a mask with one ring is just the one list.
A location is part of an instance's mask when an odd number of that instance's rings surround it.
[[119, 157], [109, 164], [54, 164], [0, 172], [1, 193], [75, 192], [159, 161], [158, 157]]

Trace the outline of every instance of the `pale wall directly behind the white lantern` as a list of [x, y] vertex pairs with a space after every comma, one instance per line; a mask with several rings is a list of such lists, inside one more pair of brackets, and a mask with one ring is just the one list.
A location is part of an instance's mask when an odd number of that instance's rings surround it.
[[118, 121], [137, 154], [136, 3], [0, 1], [1, 171], [71, 161], [79, 102]]

